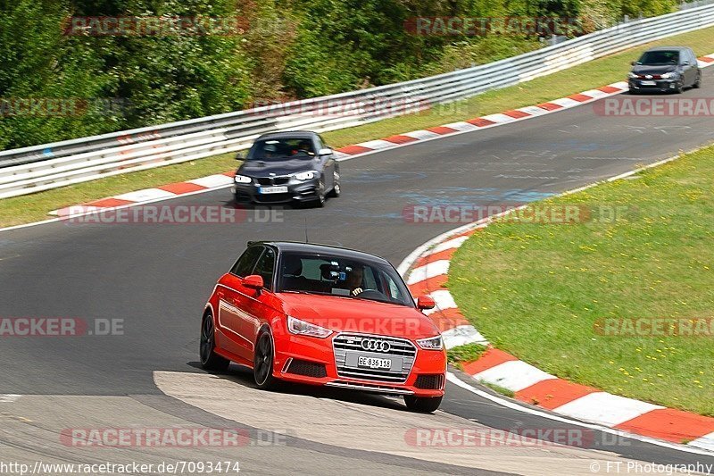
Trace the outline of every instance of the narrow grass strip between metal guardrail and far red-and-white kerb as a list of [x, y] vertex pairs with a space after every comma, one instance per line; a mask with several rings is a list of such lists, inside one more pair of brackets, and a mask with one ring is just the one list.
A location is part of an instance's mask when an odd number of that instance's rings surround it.
[[[511, 88], [497, 89], [464, 101], [437, 106], [419, 114], [409, 114], [386, 121], [378, 121], [350, 129], [324, 134], [334, 147], [347, 146], [365, 140], [384, 138], [415, 129], [434, 127], [463, 121], [485, 114], [538, 104], [586, 89], [624, 80], [629, 63], [644, 49], [662, 44], [691, 46], [698, 55], [710, 54], [714, 45], [714, 28], [701, 29], [666, 40], [639, 46], [623, 53], [594, 60], [544, 78], [534, 79]], [[12, 226], [47, 218], [46, 213], [63, 206], [77, 205], [88, 200], [150, 188], [167, 183], [191, 180], [202, 175], [231, 170], [235, 163], [229, 154], [161, 167], [152, 171], [128, 173], [112, 179], [94, 180], [71, 187], [58, 188], [39, 194], [0, 200], [0, 227]]]

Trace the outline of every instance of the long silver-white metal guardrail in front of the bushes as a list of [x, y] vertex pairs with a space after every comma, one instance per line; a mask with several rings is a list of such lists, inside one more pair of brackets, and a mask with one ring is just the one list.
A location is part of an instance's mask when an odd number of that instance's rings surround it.
[[413, 113], [711, 25], [714, 4], [706, 4], [621, 23], [558, 45], [429, 78], [8, 150], [0, 152], [0, 198], [235, 152], [249, 147], [265, 132], [324, 132]]

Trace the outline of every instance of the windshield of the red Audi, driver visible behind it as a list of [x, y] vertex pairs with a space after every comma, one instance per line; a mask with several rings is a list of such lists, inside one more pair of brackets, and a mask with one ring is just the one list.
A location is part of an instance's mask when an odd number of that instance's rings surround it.
[[369, 299], [413, 307], [414, 301], [394, 268], [331, 255], [285, 252], [278, 292], [304, 292]]

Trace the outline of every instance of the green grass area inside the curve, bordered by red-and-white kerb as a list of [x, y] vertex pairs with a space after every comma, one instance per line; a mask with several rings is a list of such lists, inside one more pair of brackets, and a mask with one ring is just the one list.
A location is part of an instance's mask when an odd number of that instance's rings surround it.
[[[561, 378], [714, 416], [714, 336], [598, 333], [604, 318], [714, 318], [714, 147], [538, 205], [616, 221], [500, 221], [457, 251], [448, 288], [495, 347]], [[598, 213], [595, 213], [597, 216]]]

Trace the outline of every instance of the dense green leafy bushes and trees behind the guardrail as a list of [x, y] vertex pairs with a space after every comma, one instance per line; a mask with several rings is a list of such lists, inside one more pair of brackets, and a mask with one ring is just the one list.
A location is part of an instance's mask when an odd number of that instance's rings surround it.
[[[322, 96], [488, 63], [538, 38], [419, 36], [414, 17], [668, 13], [676, 0], [0, 0], [0, 149]], [[72, 16], [239, 17], [240, 35], [68, 36]], [[29, 98], [77, 112], [16, 114]], [[107, 107], [107, 104], [117, 107]]]

